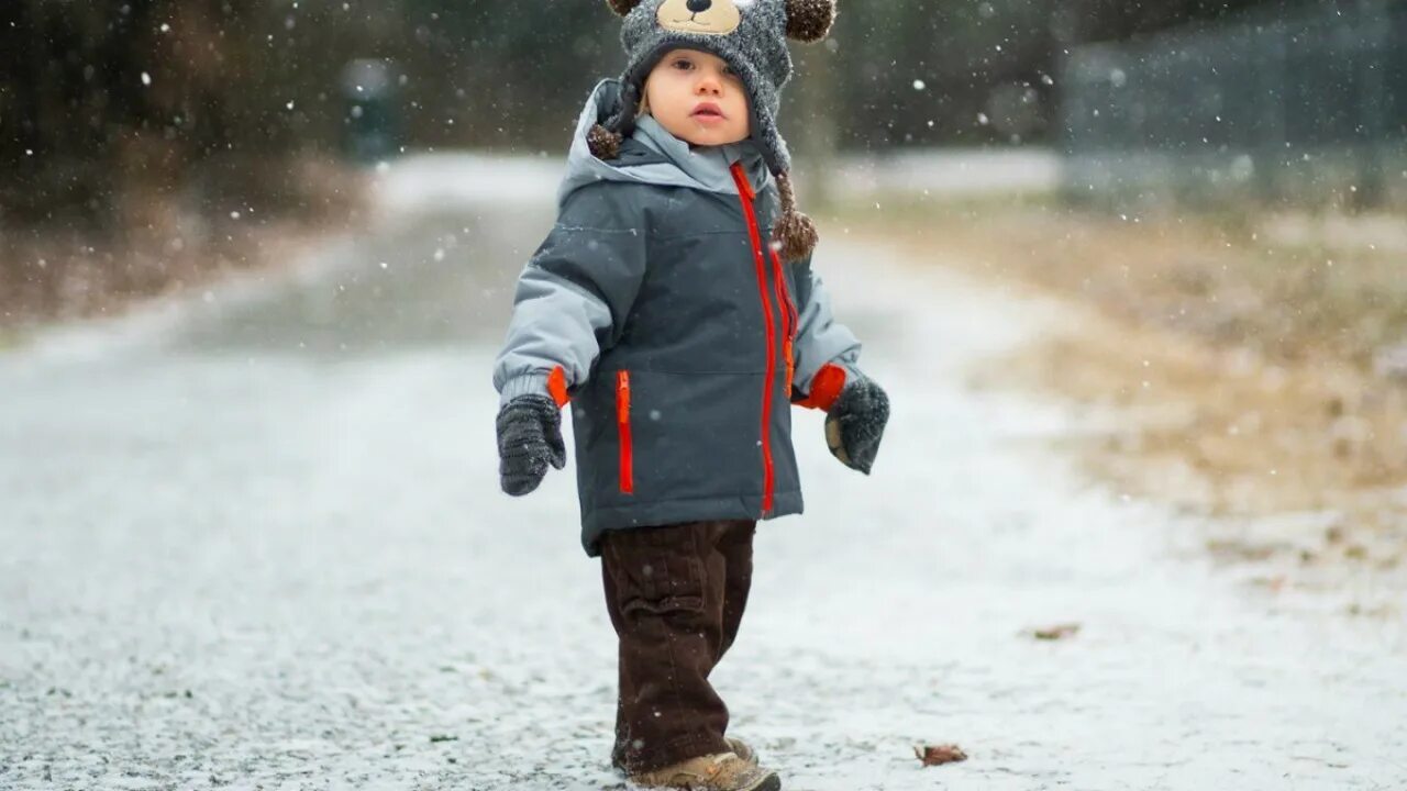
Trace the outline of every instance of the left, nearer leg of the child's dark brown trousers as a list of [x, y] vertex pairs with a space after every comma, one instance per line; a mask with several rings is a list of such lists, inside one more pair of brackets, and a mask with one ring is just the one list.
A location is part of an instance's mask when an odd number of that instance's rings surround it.
[[722, 654], [727, 522], [608, 532], [601, 542], [620, 639], [615, 757], [650, 771], [727, 750], [727, 707], [708, 677]]

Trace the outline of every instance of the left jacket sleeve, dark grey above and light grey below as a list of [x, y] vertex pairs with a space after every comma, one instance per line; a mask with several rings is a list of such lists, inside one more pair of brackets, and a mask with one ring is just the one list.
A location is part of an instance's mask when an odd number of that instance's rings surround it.
[[644, 277], [644, 213], [633, 190], [602, 182], [574, 191], [523, 266], [508, 336], [494, 362], [501, 403], [587, 381], [618, 338]]

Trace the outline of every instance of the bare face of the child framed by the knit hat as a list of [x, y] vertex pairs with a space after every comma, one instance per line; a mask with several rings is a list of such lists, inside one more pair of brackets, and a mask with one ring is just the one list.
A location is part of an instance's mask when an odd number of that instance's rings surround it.
[[718, 55], [671, 51], [646, 77], [644, 96], [650, 115], [694, 145], [725, 145], [749, 135], [743, 79]]

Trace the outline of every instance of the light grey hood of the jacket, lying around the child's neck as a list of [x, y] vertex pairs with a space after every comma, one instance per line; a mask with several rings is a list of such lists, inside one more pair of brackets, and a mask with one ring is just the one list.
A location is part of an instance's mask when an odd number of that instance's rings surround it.
[[650, 115], [642, 115], [635, 122], [630, 139], [664, 159], [642, 165], [619, 167], [597, 159], [587, 144], [587, 132], [598, 122], [609, 118], [619, 106], [620, 80], [605, 79], [597, 83], [587, 99], [567, 152], [567, 173], [557, 187], [557, 207], [577, 189], [595, 182], [635, 182], [667, 187], [689, 187], [695, 190], [737, 194], [729, 167], [741, 160], [749, 182], [757, 193], [771, 186], [772, 175], [767, 169], [761, 149], [753, 138], [729, 145], [691, 146], [671, 135]]

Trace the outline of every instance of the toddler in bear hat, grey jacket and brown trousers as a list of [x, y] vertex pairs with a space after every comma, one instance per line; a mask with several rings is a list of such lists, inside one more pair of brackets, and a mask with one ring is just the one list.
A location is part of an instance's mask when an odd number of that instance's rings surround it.
[[889, 404], [812, 272], [777, 131], [787, 38], [833, 0], [609, 0], [628, 66], [582, 111], [557, 222], [494, 367], [501, 484], [566, 466], [619, 638], [612, 763], [647, 788], [775, 791], [709, 673], [737, 635], [760, 519], [801, 514], [789, 404], [870, 473]]

